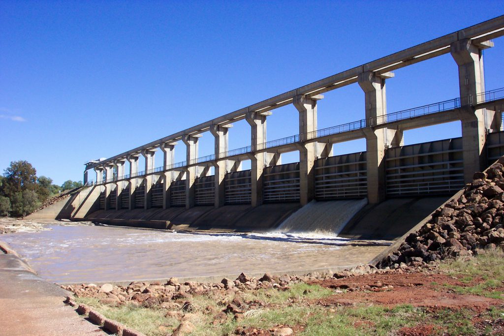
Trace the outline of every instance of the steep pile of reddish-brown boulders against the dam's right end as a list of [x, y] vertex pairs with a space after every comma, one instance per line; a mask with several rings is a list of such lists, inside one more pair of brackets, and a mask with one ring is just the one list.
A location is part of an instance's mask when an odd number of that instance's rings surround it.
[[503, 172], [497, 162], [485, 172], [475, 173], [460, 197], [437, 209], [379, 266], [471, 256], [480, 248], [504, 248]]

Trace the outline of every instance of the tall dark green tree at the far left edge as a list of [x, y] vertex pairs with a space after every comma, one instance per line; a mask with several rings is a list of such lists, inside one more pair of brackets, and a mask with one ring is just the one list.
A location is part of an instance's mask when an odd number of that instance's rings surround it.
[[37, 171], [28, 161], [14, 161], [4, 170], [4, 179], [0, 191], [3, 196], [9, 197], [11, 203], [14, 195], [23, 190], [37, 188]]

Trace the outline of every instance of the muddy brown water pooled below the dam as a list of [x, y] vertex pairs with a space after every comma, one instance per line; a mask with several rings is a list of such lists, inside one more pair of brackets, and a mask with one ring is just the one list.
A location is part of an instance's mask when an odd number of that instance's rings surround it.
[[389, 241], [334, 235], [172, 233], [107, 226], [50, 225], [2, 235], [42, 278], [56, 283], [295, 272], [366, 263]]

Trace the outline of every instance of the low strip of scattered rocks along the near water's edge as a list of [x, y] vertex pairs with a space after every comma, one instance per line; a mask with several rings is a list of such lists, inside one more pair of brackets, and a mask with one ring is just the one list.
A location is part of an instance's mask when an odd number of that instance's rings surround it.
[[[410, 265], [401, 264], [397, 269], [390, 267], [379, 269], [372, 265], [359, 265], [351, 270], [342, 271], [336, 274], [320, 274], [318, 272], [310, 273], [304, 276], [271, 276], [266, 273], [262, 278], [249, 277], [240, 274], [236, 280], [224, 278], [220, 283], [200, 283], [187, 281], [179, 283], [176, 278], [170, 278], [166, 283], [155, 282], [132, 282], [127, 286], [114, 286], [104, 284], [97, 286], [95, 284], [81, 284], [61, 286], [70, 292], [73, 292], [78, 298], [96, 298], [102, 304], [124, 305], [134, 304], [144, 307], [160, 307], [168, 310], [190, 310], [191, 299], [199, 295], [209, 295], [216, 300], [229, 298], [229, 294], [239, 296], [246, 291], [273, 288], [279, 291], [289, 289], [291, 285], [298, 283], [309, 283], [313, 281], [328, 280], [333, 278], [342, 278], [363, 274], [389, 274], [389, 273], [408, 273], [417, 272], [424, 268], [431, 269], [433, 266], [422, 262], [413, 262]], [[261, 301], [247, 302], [227, 302], [226, 312], [236, 314], [243, 313], [243, 307], [262, 306]]]

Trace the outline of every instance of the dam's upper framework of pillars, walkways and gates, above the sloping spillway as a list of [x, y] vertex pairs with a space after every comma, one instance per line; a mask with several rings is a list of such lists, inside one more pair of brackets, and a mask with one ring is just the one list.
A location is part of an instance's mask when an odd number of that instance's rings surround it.
[[[490, 39], [502, 35], [504, 16], [357, 66], [109, 159], [89, 162], [84, 181], [100, 188], [100, 208], [106, 210], [257, 206], [282, 201], [304, 205], [311, 199], [345, 197], [367, 197], [369, 203], [380, 203], [386, 196], [451, 192], [486, 164], [487, 139], [501, 128], [504, 88], [485, 90], [481, 51], [493, 46]], [[458, 66], [460, 96], [387, 113], [386, 80], [394, 77], [391, 71], [447, 53]], [[317, 101], [324, 98], [322, 94], [354, 83], [364, 92], [365, 118], [318, 128]], [[288, 104], [299, 112], [299, 132], [267, 141], [267, 117], [272, 110]], [[250, 125], [250, 146], [228, 150], [228, 128], [243, 119]], [[403, 146], [404, 130], [451, 121], [461, 122], [462, 138]], [[198, 139], [207, 131], [215, 138], [215, 153], [198, 157]], [[492, 136], [491, 148], [504, 147], [501, 138], [504, 137]], [[366, 140], [365, 152], [332, 155], [333, 144], [356, 139]], [[185, 144], [186, 160], [175, 163], [177, 141]], [[154, 155], [158, 149], [164, 154], [164, 162], [155, 168]], [[291, 151], [299, 151], [300, 162], [281, 165], [281, 154]], [[413, 152], [406, 155], [408, 151]], [[143, 171], [138, 169], [140, 156], [145, 157]], [[243, 160], [250, 160], [250, 170], [240, 170]], [[129, 174], [124, 171], [125, 161], [130, 163]], [[210, 167], [214, 167], [215, 174], [208, 176]], [[96, 171], [95, 182], [88, 181], [90, 169]]]

